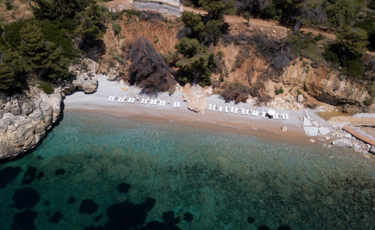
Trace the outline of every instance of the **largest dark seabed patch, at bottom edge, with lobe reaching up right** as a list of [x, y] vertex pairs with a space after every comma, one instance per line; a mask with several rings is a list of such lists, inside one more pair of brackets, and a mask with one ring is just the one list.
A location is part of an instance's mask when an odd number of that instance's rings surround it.
[[147, 218], [147, 213], [155, 206], [155, 199], [146, 200], [135, 205], [130, 202], [115, 203], [107, 209], [107, 230], [127, 230], [142, 226]]

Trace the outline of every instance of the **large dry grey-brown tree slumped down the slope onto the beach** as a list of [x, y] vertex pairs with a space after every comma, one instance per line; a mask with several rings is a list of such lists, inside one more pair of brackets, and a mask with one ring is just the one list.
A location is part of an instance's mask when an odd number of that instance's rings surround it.
[[143, 37], [129, 44], [129, 82], [148, 93], [165, 92], [171, 89], [174, 79], [163, 58]]

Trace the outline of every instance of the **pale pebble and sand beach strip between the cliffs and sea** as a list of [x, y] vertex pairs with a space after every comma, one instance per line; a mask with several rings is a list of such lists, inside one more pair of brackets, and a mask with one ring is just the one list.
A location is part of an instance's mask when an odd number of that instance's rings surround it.
[[[135, 87], [126, 86], [127, 91], [124, 92], [121, 90], [123, 85], [118, 82], [109, 82], [102, 75], [98, 76], [98, 82], [98, 91], [95, 93], [74, 92], [66, 96], [64, 99], [65, 110], [106, 113], [145, 122], [168, 122], [311, 144], [309, 141], [311, 137], [306, 136], [303, 131], [303, 122], [300, 120], [305, 116], [303, 110], [278, 110], [276, 112], [280, 114], [279, 119], [265, 119], [261, 117], [261, 112], [268, 111], [269, 108], [257, 107], [249, 103], [234, 105], [231, 102], [230, 106], [235, 106], [239, 109], [242, 107], [249, 110], [258, 110], [260, 115], [258, 117], [251, 116], [251, 114], [242, 115], [241, 111], [237, 114], [225, 113], [225, 106], [228, 106], [228, 103], [225, 103], [218, 95], [212, 95], [208, 97], [207, 105], [217, 104], [223, 107], [223, 111], [220, 113], [216, 109], [216, 111], [205, 110], [205, 113], [195, 113], [187, 109], [187, 103], [183, 101], [182, 93], [179, 91], [175, 91], [171, 96], [168, 93], [160, 93], [158, 95], [160, 100], [168, 101], [168, 98], [170, 98], [170, 104], [161, 107], [150, 105], [149, 103], [141, 104], [141, 99], [147, 98], [147, 95], [141, 95], [139, 89]], [[107, 101], [109, 96], [117, 95], [117, 97], [123, 97], [125, 93], [127, 98], [138, 95], [139, 102], [135, 101], [132, 104], [126, 101], [124, 103], [118, 103], [117, 100], [114, 102]], [[149, 97], [150, 99], [156, 98], [156, 96]], [[175, 101], [180, 102], [180, 108], [173, 108], [173, 102]], [[289, 120], [282, 120], [281, 113], [288, 113]], [[322, 125], [328, 125], [316, 115], [314, 110], [309, 110], [309, 115]], [[288, 131], [281, 131], [282, 126], [287, 126]]]

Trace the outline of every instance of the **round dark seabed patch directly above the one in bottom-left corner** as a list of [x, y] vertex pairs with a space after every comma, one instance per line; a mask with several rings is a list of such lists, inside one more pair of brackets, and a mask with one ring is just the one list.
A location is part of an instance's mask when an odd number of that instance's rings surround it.
[[18, 210], [33, 208], [39, 202], [40, 194], [32, 188], [17, 189], [14, 191], [12, 200]]

